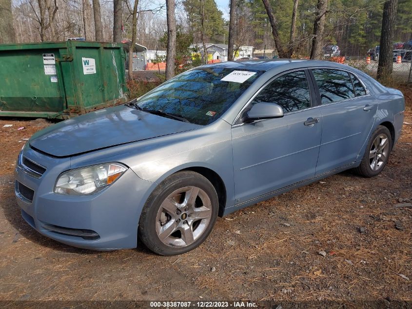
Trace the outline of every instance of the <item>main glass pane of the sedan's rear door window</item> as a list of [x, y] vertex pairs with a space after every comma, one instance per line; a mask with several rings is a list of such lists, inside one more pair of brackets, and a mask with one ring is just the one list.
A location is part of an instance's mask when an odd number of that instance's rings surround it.
[[322, 104], [355, 97], [348, 72], [333, 69], [314, 69], [312, 72], [319, 88]]

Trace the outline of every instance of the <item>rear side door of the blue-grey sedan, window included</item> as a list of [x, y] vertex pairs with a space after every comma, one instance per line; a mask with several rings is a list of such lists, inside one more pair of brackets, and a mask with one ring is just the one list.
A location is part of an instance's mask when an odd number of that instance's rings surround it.
[[352, 73], [312, 69], [322, 113], [316, 175], [353, 163], [372, 129], [377, 103]]

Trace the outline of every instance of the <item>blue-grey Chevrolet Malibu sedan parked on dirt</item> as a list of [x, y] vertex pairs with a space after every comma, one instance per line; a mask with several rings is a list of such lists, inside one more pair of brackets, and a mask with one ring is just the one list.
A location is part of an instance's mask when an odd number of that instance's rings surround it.
[[400, 91], [333, 62], [204, 65], [34, 134], [19, 154], [17, 202], [64, 244], [113, 250], [139, 237], [181, 254], [217, 216], [346, 169], [379, 174], [404, 109]]

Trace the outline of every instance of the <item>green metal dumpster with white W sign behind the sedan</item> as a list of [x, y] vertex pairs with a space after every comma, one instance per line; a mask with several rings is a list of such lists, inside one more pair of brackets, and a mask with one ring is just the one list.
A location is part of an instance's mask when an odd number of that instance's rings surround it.
[[124, 45], [0, 44], [0, 116], [67, 119], [127, 102]]

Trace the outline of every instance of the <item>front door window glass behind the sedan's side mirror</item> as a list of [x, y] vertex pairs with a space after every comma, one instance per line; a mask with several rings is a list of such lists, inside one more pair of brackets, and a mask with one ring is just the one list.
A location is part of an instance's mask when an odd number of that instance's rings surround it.
[[276, 103], [285, 113], [311, 106], [311, 95], [305, 71], [286, 73], [268, 84], [253, 100]]

